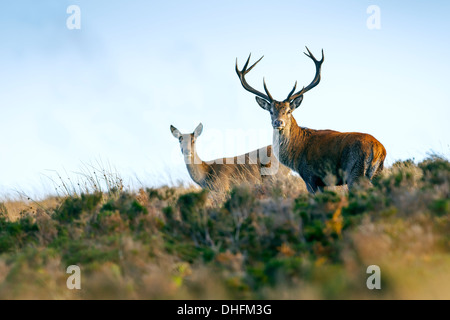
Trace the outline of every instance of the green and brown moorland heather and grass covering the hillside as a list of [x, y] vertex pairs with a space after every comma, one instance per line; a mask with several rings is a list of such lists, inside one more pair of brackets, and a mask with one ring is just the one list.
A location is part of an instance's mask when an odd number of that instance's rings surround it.
[[432, 156], [350, 192], [291, 177], [4, 201], [0, 298], [450, 299], [449, 194], [450, 162]]

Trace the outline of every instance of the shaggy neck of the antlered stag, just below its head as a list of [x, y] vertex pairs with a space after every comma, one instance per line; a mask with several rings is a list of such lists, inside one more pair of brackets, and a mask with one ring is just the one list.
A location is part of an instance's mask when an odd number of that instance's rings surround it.
[[283, 130], [274, 130], [273, 149], [282, 164], [296, 170], [292, 155], [301, 151], [308, 137], [308, 131], [309, 129], [300, 127], [294, 118]]

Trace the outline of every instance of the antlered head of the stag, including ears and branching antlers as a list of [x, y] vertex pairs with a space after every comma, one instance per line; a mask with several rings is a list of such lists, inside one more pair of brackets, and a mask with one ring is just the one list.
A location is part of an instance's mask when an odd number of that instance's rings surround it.
[[237, 59], [236, 59], [236, 73], [239, 76], [239, 79], [241, 80], [241, 84], [244, 87], [245, 90], [253, 93], [256, 95], [256, 101], [258, 102], [259, 106], [263, 108], [264, 110], [267, 110], [270, 112], [270, 116], [272, 118], [272, 127], [276, 130], [284, 130], [285, 128], [289, 128], [292, 122], [292, 112], [300, 106], [303, 100], [303, 95], [317, 86], [320, 82], [320, 70], [322, 67], [322, 63], [324, 61], [324, 55], [322, 50], [322, 59], [316, 60], [314, 55], [309, 51], [308, 47], [306, 47], [306, 50], [308, 53], [305, 52], [305, 55], [311, 58], [314, 61], [314, 64], [316, 65], [316, 75], [313, 79], [313, 81], [307, 86], [303, 87], [300, 91], [295, 92], [295, 89], [297, 88], [297, 82], [295, 82], [294, 88], [291, 90], [291, 92], [288, 94], [287, 98], [283, 101], [277, 101], [274, 100], [267, 89], [266, 81], [263, 80], [264, 84], [264, 91], [265, 94], [253, 89], [245, 80], [245, 75], [252, 70], [252, 68], [264, 57], [261, 57], [258, 61], [256, 61], [251, 67], [248, 68], [248, 64], [250, 62], [251, 54], [248, 56], [247, 62], [245, 63], [242, 70], [239, 70]]

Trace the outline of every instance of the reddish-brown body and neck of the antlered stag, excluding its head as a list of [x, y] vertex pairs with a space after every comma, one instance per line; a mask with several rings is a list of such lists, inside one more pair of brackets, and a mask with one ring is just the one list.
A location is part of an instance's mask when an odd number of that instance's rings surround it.
[[273, 137], [278, 160], [298, 172], [310, 192], [326, 185], [351, 187], [360, 177], [370, 180], [386, 157], [383, 145], [369, 134], [303, 128], [294, 118]]

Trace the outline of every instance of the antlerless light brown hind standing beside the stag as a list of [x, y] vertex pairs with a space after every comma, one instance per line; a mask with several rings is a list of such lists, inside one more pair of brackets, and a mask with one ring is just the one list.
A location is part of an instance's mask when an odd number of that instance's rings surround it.
[[274, 156], [272, 146], [236, 157], [201, 160], [195, 147], [196, 138], [202, 130], [202, 127], [199, 127], [192, 134], [181, 134], [174, 127], [171, 127], [171, 131], [180, 139], [186, 168], [192, 180], [200, 187], [226, 191], [233, 185], [244, 182], [258, 184], [266, 179], [276, 179], [290, 173], [290, 169], [280, 164]]

